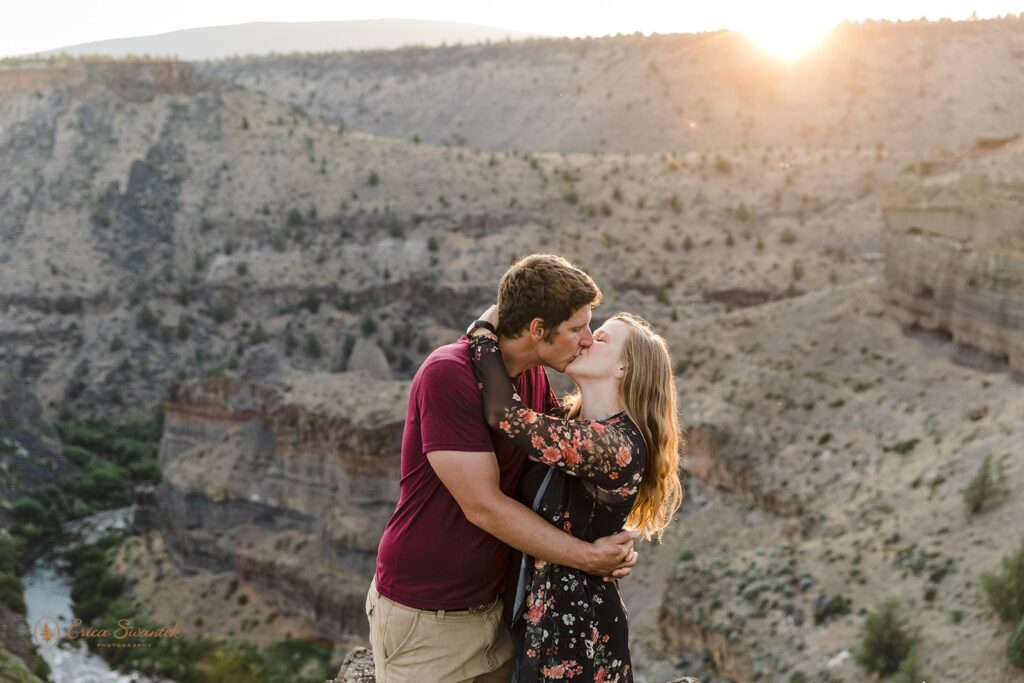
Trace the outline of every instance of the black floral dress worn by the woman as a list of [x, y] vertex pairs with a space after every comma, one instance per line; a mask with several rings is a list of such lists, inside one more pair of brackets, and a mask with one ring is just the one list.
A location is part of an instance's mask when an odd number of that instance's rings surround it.
[[[643, 478], [643, 436], [625, 412], [603, 420], [563, 420], [519, 399], [498, 343], [473, 337], [473, 370], [487, 424], [541, 463], [523, 476], [532, 502], [540, 474], [552, 468], [538, 514], [584, 541], [622, 529]], [[512, 635], [519, 681], [633, 680], [626, 607], [615, 583], [527, 558], [522, 614]], [[518, 565], [514, 565], [514, 570]]]

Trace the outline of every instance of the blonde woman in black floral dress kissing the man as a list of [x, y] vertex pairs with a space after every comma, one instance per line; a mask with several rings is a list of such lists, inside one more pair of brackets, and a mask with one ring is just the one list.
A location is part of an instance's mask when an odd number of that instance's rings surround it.
[[[540, 465], [522, 495], [548, 521], [585, 541], [635, 528], [658, 540], [682, 500], [676, 387], [668, 344], [617, 313], [566, 368], [578, 386], [565, 418], [516, 395], [497, 338], [471, 337], [487, 424]], [[512, 613], [513, 681], [632, 681], [626, 608], [614, 582], [541, 560], [522, 565]]]

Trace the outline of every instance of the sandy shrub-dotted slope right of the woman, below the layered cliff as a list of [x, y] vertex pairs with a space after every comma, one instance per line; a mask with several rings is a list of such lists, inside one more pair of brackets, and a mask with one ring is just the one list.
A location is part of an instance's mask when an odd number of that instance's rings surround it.
[[[889, 291], [871, 276], [737, 310], [677, 346], [707, 361], [683, 382], [695, 480], [665, 549], [666, 653], [737, 681], [863, 680], [863, 614], [892, 595], [934, 680], [1019, 680], [980, 577], [1020, 543], [1020, 384], [905, 335]], [[1010, 495], [971, 514], [986, 457]]]

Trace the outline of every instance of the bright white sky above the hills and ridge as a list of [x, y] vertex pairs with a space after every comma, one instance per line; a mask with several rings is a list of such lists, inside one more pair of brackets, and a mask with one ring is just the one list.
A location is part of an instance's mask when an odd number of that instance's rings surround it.
[[[11, 2], [0, 23], [0, 56], [249, 22], [418, 18], [463, 22], [549, 36], [759, 30], [771, 36], [820, 31], [844, 19], [967, 18], [1018, 14], [1024, 0], [174, 0], [163, 11], [139, 0]], [[781, 38], [784, 39], [784, 38]]]

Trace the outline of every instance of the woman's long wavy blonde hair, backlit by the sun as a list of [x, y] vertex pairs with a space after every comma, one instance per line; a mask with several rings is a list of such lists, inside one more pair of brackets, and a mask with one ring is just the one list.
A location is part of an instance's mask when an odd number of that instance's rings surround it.
[[[679, 481], [679, 455], [683, 439], [676, 413], [676, 378], [669, 343], [654, 334], [650, 323], [633, 313], [615, 313], [609, 321], [630, 327], [623, 344], [626, 374], [618, 384], [618, 399], [647, 445], [640, 490], [626, 525], [644, 539], [662, 540], [665, 528], [683, 502]], [[566, 417], [579, 417], [580, 392], [566, 396]]]

